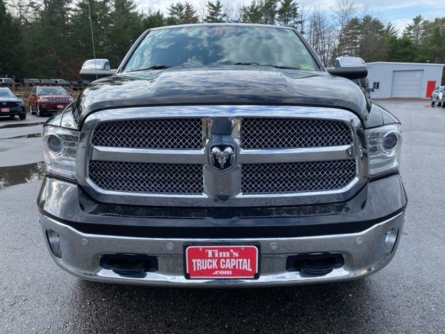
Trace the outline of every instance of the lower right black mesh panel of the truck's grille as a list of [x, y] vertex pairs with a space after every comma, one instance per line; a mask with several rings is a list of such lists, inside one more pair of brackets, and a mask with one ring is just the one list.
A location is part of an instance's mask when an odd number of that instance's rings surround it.
[[241, 191], [245, 194], [330, 191], [347, 186], [356, 173], [354, 160], [245, 164]]

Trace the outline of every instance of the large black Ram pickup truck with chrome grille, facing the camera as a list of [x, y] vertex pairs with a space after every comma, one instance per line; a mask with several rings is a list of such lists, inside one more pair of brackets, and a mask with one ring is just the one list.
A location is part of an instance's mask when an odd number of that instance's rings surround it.
[[[44, 125], [49, 253], [108, 283], [247, 287], [363, 278], [398, 245], [401, 124], [295, 29], [145, 31]], [[112, 73], [109, 73], [112, 74]], [[94, 78], [93, 78], [93, 77]]]

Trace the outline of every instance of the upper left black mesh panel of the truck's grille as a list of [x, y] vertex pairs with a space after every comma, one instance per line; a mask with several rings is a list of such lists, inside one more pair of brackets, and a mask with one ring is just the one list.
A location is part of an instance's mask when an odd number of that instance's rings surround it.
[[201, 149], [200, 118], [120, 120], [100, 123], [92, 145], [113, 148]]

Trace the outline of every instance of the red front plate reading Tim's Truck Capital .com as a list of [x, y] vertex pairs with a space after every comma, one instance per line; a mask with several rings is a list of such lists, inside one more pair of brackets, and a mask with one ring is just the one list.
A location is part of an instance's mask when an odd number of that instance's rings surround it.
[[186, 278], [258, 278], [257, 246], [188, 246]]

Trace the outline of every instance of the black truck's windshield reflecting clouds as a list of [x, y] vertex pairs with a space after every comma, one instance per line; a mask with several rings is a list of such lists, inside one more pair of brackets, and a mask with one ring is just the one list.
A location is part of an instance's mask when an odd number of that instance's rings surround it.
[[265, 26], [187, 26], [151, 31], [124, 72], [155, 65], [234, 65], [251, 63], [318, 70], [298, 35]]

